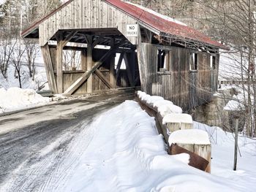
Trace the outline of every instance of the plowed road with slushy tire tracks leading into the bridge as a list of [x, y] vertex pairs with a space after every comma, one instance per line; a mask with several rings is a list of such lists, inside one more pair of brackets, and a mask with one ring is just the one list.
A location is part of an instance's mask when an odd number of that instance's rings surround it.
[[[69, 101], [0, 117], [0, 191], [54, 191], [72, 172], [72, 153], [93, 138], [90, 123], [133, 93]], [[78, 155], [76, 155], [76, 158]]]

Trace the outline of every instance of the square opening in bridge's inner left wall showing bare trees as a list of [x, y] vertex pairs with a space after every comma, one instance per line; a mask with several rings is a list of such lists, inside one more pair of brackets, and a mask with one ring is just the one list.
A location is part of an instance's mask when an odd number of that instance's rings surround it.
[[76, 71], [81, 69], [79, 50], [63, 50], [63, 70]]

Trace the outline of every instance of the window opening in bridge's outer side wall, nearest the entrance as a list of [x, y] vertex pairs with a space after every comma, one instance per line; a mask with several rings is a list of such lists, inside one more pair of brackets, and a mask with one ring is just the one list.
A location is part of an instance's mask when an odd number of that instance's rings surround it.
[[158, 50], [157, 72], [170, 72], [171, 55], [168, 50]]

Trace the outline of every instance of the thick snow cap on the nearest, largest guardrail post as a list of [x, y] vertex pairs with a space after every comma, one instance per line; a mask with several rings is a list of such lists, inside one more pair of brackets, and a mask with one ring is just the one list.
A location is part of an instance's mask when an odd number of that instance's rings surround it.
[[173, 131], [168, 139], [172, 143], [210, 145], [211, 142], [206, 131], [200, 129], [184, 129]]

